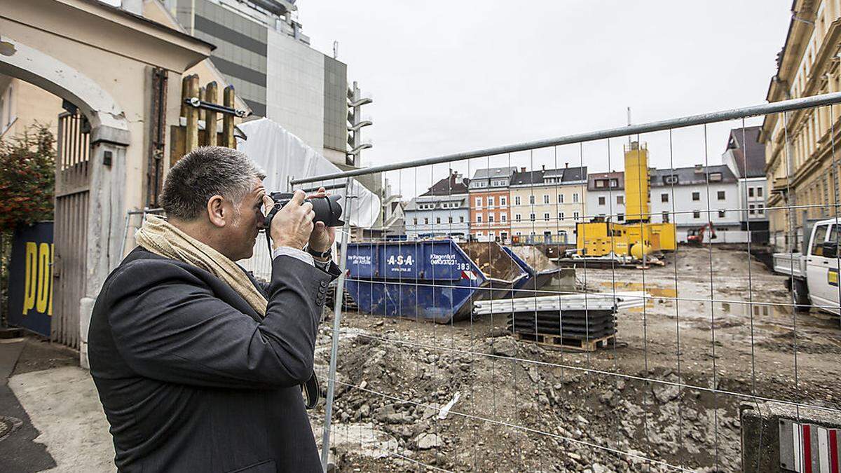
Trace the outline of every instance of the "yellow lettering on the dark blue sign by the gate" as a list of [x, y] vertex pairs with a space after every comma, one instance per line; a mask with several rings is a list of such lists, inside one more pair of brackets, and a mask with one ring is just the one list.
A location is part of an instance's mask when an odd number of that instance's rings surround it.
[[24, 263], [23, 315], [34, 309], [51, 316], [53, 244], [26, 242]]

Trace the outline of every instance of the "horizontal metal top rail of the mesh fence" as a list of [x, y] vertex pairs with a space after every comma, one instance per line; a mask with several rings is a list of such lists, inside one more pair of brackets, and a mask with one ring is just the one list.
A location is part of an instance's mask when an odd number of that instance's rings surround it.
[[320, 176], [311, 176], [309, 178], [293, 179], [290, 181], [290, 183], [294, 185], [301, 183], [315, 183], [317, 181], [325, 181], [329, 179], [350, 178], [353, 176], [363, 176], [366, 174], [396, 171], [398, 169], [406, 169], [409, 167], [440, 164], [442, 162], [463, 161], [465, 159], [472, 159], [474, 157], [495, 156], [510, 152], [546, 148], [549, 146], [561, 146], [569, 145], [572, 143], [581, 143], [584, 141], [605, 140], [606, 138], [616, 138], [617, 136], [629, 136], [637, 135], [639, 133], [650, 133], [653, 131], [669, 130], [674, 128], [685, 128], [687, 126], [704, 125], [707, 123], [716, 123], [719, 121], [748, 118], [764, 114], [775, 114], [780, 112], [788, 112], [791, 110], [809, 109], [812, 107], [820, 107], [822, 105], [832, 104], [841, 104], [841, 92], [824, 93], [822, 95], [813, 95], [812, 97], [804, 98], [792, 98], [791, 100], [782, 100], [780, 102], [773, 102], [771, 104], [759, 104], [750, 107], [742, 107], [740, 109], [729, 109], [722, 110], [719, 112], [711, 112], [707, 114], [690, 115], [670, 120], [653, 121], [650, 123], [643, 123], [640, 125], [630, 125], [622, 126], [619, 128], [611, 128], [608, 130], [588, 131], [586, 133], [560, 136], [558, 138], [547, 138], [545, 140], [526, 141], [525, 143], [518, 143], [515, 145], [496, 146], [493, 148], [484, 148], [476, 151], [464, 151], [444, 156], [425, 157], [421, 159], [415, 159], [412, 161], [383, 164], [382, 166], [362, 167], [360, 169], [353, 169], [351, 171], [342, 171], [341, 173], [329, 173], [321, 174]]

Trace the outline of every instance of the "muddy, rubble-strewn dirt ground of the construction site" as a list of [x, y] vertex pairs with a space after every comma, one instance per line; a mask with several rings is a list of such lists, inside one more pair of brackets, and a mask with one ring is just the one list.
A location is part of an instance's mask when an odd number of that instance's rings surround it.
[[[652, 296], [620, 310], [616, 343], [594, 353], [517, 341], [505, 316], [438, 325], [346, 313], [333, 461], [343, 471], [734, 471], [749, 396], [839, 407], [837, 316], [794, 316], [785, 277], [746, 252], [681, 247], [667, 260], [577, 270], [587, 290]], [[316, 352], [324, 385], [329, 315]], [[323, 409], [312, 415], [319, 441]]]

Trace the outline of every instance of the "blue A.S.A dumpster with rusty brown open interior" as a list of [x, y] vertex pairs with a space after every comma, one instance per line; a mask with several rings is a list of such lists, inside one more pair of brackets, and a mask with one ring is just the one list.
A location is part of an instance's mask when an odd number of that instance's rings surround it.
[[351, 243], [347, 292], [373, 315], [466, 319], [474, 301], [504, 295], [527, 276], [497, 243], [474, 245], [450, 239]]

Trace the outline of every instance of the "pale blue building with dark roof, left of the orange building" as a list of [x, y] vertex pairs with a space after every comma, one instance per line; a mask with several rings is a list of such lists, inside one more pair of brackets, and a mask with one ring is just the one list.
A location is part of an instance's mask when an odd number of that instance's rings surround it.
[[406, 237], [467, 238], [470, 208], [470, 179], [459, 173], [436, 182], [425, 193], [411, 199], [403, 210]]

